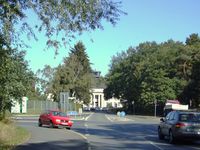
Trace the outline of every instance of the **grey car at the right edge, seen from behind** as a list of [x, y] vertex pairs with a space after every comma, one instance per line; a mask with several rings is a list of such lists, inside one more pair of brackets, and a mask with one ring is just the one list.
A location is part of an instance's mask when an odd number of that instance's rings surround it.
[[179, 139], [200, 139], [200, 112], [171, 111], [165, 118], [160, 119], [158, 137], [169, 137], [169, 143]]

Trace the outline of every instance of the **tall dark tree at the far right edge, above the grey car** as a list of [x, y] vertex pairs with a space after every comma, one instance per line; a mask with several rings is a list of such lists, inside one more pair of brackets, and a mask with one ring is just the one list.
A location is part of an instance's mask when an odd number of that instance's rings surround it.
[[198, 34], [191, 34], [186, 39], [186, 50], [190, 52], [189, 59], [189, 80], [187, 86], [184, 88], [183, 92], [180, 94], [180, 99], [186, 103], [190, 104], [192, 108], [198, 108], [200, 104], [200, 78], [199, 78], [199, 60], [200, 60], [200, 38]]

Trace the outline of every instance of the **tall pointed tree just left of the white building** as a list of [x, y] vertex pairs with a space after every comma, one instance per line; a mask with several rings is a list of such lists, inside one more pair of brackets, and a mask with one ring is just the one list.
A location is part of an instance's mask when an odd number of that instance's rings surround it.
[[68, 91], [77, 100], [85, 104], [90, 102], [91, 67], [85, 50], [83, 43], [78, 42], [64, 59], [63, 65], [57, 68], [52, 86], [57, 98], [59, 92]]

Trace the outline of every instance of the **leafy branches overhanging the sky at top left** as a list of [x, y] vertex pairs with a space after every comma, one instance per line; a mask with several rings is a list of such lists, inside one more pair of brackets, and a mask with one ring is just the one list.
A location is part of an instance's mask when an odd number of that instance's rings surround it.
[[[20, 46], [20, 34], [37, 39], [35, 32], [44, 31], [47, 45], [58, 49], [57, 37], [66, 44], [76, 33], [102, 29], [103, 19], [116, 24], [120, 14], [124, 14], [120, 6], [121, 2], [112, 0], [0, 0], [0, 34], [7, 43]], [[38, 20], [29, 23], [28, 12]]]

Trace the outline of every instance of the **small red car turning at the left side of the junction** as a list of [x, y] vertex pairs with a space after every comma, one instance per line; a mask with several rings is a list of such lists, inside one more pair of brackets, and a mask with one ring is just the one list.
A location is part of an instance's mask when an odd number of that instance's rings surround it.
[[38, 119], [38, 126], [49, 125], [50, 127], [65, 127], [71, 129], [73, 122], [66, 113], [61, 111], [47, 110]]

